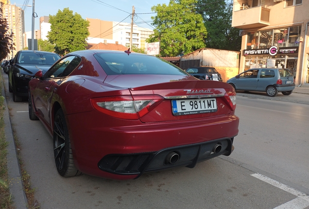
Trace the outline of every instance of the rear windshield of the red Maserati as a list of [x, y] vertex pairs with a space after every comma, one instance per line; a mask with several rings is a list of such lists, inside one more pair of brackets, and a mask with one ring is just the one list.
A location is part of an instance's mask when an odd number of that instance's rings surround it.
[[154, 74], [187, 75], [172, 63], [154, 56], [131, 53], [98, 53], [98, 60], [107, 75]]

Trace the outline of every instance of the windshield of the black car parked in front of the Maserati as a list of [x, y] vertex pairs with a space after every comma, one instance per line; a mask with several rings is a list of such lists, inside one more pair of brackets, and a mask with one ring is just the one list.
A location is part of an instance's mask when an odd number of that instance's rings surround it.
[[57, 54], [21, 52], [19, 54], [17, 63], [52, 65], [59, 59], [60, 59], [60, 56]]

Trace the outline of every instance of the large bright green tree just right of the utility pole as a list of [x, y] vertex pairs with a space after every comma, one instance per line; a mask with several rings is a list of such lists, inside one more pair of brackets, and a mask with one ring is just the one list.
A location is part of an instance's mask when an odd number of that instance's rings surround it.
[[169, 5], [157, 4], [152, 11], [154, 34], [148, 43], [160, 42], [161, 56], [188, 54], [205, 47], [207, 31], [202, 15], [196, 12], [197, 0], [170, 0]]

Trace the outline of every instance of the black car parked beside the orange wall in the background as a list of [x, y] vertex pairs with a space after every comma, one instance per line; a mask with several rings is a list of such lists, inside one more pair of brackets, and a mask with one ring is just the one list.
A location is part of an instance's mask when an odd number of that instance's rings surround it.
[[214, 67], [190, 67], [186, 72], [200, 80], [222, 81], [221, 75]]

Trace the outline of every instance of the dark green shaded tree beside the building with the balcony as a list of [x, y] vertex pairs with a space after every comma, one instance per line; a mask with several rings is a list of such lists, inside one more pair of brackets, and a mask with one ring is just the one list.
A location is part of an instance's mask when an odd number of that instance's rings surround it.
[[233, 0], [198, 0], [199, 13], [207, 28], [206, 46], [215, 49], [239, 51], [240, 29], [232, 28]]

